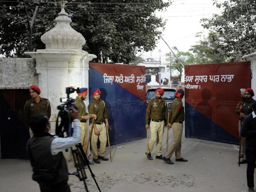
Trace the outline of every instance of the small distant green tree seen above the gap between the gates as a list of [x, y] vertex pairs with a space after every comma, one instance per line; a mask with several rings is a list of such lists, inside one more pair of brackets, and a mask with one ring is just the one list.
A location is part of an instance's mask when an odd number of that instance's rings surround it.
[[[176, 52], [176, 56], [181, 60], [184, 65], [193, 64], [194, 56], [192, 53], [179, 51], [177, 47], [173, 47], [172, 49], [174, 50], [174, 52]], [[179, 72], [178, 78], [179, 80], [181, 80], [183, 67], [180, 65], [174, 55], [172, 55], [170, 58], [170, 53], [167, 53], [166, 57], [166, 61], [171, 61], [172, 64], [169, 70], [177, 70]]]

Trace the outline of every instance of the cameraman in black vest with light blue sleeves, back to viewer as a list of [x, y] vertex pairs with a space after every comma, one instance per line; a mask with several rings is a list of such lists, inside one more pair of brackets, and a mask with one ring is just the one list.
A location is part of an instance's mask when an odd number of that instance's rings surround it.
[[45, 114], [30, 117], [29, 125], [34, 137], [28, 140], [27, 149], [33, 168], [32, 179], [38, 182], [41, 192], [70, 192], [68, 167], [61, 151], [78, 144], [81, 137], [78, 111], [74, 107], [71, 109], [74, 132], [67, 138], [54, 138], [48, 133], [50, 123]]

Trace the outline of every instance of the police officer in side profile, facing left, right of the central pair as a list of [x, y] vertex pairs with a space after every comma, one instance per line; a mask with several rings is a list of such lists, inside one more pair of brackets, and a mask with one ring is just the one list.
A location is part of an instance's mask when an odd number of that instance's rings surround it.
[[172, 157], [172, 154], [175, 152], [176, 161], [180, 162], [187, 162], [188, 160], [182, 158], [181, 156], [181, 137], [182, 137], [182, 131], [183, 131], [183, 121], [185, 119], [184, 114], [184, 107], [182, 104], [182, 98], [184, 96], [184, 90], [181, 88], [177, 89], [175, 92], [176, 99], [172, 103], [172, 115], [171, 115], [171, 121], [170, 124], [172, 125], [172, 131], [173, 131], [173, 141], [166, 152], [163, 160], [167, 162], [168, 164], [174, 164], [170, 158]]

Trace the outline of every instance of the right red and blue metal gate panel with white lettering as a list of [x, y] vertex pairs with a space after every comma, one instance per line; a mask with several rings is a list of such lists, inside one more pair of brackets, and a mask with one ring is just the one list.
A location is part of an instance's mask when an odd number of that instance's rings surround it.
[[235, 108], [250, 82], [250, 62], [185, 66], [185, 136], [238, 144]]

